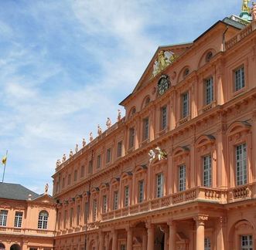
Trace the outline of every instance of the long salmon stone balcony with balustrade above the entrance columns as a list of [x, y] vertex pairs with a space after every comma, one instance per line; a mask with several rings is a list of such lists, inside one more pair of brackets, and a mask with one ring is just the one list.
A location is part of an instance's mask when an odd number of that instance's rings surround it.
[[171, 208], [177, 204], [186, 204], [190, 201], [211, 201], [217, 204], [233, 203], [251, 199], [253, 198], [253, 193], [256, 193], [256, 183], [229, 189], [206, 187], [190, 188], [189, 190], [178, 192], [176, 194], [169, 194], [162, 198], [155, 198], [151, 201], [134, 204], [128, 208], [109, 211], [108, 213], [101, 215], [101, 219], [102, 221], [109, 221], [116, 218], [140, 215], [150, 211]]

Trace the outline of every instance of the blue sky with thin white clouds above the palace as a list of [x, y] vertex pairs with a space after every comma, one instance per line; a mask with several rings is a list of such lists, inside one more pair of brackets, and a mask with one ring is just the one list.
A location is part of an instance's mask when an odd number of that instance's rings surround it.
[[[5, 182], [42, 193], [56, 159], [114, 122], [158, 46], [190, 42], [241, 0], [1, 0]], [[122, 111], [124, 114], [124, 111]], [[0, 167], [2, 179], [3, 167]], [[51, 190], [51, 189], [50, 189]]]

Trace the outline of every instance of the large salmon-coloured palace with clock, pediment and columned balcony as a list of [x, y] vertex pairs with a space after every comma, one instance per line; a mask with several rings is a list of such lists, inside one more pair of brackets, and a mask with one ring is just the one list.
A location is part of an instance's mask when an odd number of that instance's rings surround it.
[[160, 46], [120, 104], [57, 162], [55, 249], [254, 249], [256, 5]]

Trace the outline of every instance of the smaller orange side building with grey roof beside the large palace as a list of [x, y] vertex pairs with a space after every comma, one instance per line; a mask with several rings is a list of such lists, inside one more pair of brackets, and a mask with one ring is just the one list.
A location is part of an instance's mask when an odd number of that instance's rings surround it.
[[56, 209], [47, 192], [0, 183], [0, 250], [53, 250]]

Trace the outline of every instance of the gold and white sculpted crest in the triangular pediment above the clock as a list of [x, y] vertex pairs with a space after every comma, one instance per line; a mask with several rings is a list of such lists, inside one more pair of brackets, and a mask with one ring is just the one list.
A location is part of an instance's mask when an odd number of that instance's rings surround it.
[[154, 62], [153, 76], [156, 76], [163, 69], [166, 69], [177, 57], [174, 52], [161, 50]]

